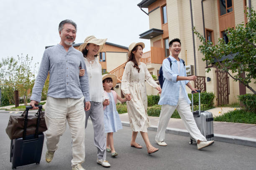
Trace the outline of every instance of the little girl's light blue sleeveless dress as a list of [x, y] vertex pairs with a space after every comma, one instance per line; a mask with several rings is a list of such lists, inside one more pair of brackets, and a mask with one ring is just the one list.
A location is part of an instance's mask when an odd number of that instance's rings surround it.
[[112, 92], [108, 92], [110, 104], [104, 110], [105, 133], [117, 132], [123, 129], [122, 122], [116, 110], [115, 100]]

